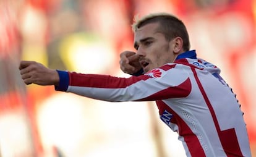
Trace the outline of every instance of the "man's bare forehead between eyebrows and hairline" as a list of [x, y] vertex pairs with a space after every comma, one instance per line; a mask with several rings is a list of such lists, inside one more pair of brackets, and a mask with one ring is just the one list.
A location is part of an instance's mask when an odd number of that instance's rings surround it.
[[147, 38], [148, 36], [153, 36], [157, 32], [158, 26], [159, 23], [148, 23], [138, 28], [134, 33], [134, 41], [139, 41], [143, 38]]

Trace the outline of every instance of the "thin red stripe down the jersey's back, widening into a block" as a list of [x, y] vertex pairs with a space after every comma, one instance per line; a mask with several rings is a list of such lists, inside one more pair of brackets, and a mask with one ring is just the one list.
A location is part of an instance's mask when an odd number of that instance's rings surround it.
[[192, 72], [194, 73], [195, 80], [197, 81], [197, 85], [203, 95], [203, 98], [205, 100], [205, 103], [207, 103], [207, 106], [210, 110], [211, 116], [213, 117], [213, 122], [215, 124], [216, 130], [218, 132], [218, 136], [220, 138], [221, 145], [223, 146], [223, 150], [225, 151], [227, 156], [243, 156], [241, 149], [239, 147], [239, 143], [236, 137], [235, 129], [227, 129], [222, 130], [220, 129], [220, 125], [218, 124], [218, 119], [216, 117], [215, 111], [213, 109], [213, 106], [211, 105], [207, 94], [205, 90], [203, 89], [202, 83], [200, 82], [197, 72], [194, 68], [192, 68]]

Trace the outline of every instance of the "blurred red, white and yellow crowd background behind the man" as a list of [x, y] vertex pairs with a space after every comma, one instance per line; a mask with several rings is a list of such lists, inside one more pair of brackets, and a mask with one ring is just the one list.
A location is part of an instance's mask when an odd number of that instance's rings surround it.
[[255, 0], [0, 0], [0, 156], [185, 156], [154, 103], [108, 103], [25, 85], [20, 60], [51, 69], [129, 77], [134, 15], [169, 12], [198, 57], [222, 69], [245, 112], [256, 156]]

